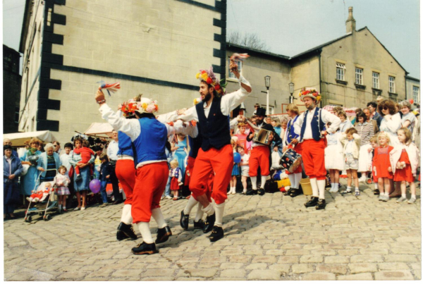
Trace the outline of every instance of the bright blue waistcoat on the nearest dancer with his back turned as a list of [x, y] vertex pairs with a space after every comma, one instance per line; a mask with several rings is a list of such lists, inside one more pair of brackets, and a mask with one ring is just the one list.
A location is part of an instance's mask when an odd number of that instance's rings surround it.
[[134, 140], [137, 164], [145, 161], [167, 161], [165, 145], [167, 141], [166, 126], [156, 118], [138, 119], [141, 133]]

